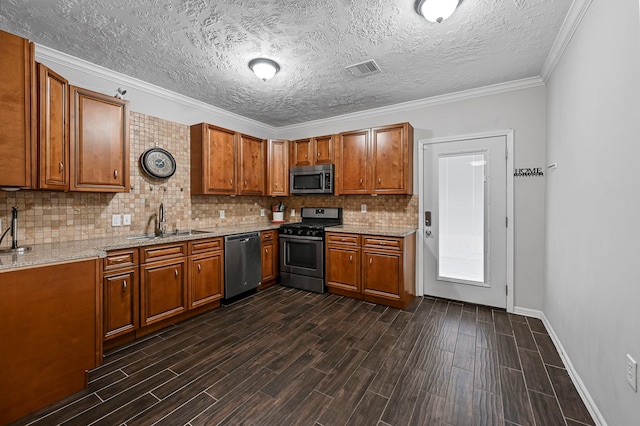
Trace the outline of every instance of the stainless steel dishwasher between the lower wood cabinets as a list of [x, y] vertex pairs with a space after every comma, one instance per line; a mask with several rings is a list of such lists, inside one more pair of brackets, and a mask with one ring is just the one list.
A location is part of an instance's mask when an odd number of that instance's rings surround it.
[[224, 237], [224, 298], [258, 288], [262, 279], [260, 233]]

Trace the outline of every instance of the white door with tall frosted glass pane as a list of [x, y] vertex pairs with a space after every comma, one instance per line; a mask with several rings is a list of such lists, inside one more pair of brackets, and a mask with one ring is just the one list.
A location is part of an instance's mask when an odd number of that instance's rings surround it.
[[506, 149], [505, 136], [424, 146], [425, 295], [506, 308]]

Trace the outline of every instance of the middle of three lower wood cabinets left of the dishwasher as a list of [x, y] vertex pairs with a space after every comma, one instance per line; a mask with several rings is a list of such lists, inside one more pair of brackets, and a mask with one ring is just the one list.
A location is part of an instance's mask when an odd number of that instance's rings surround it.
[[141, 326], [179, 315], [188, 308], [186, 243], [140, 248]]

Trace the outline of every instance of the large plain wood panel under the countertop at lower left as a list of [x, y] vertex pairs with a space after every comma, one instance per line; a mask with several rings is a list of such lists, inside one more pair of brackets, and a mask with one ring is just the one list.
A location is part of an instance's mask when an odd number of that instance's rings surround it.
[[100, 260], [0, 272], [0, 424], [86, 387], [101, 362]]

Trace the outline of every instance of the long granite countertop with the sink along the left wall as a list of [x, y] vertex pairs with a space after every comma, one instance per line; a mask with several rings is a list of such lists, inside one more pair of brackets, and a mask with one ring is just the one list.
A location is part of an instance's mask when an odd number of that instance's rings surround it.
[[106, 257], [107, 251], [110, 250], [120, 250], [158, 244], [169, 244], [211, 237], [223, 237], [226, 235], [240, 234], [244, 232], [278, 229], [279, 226], [279, 224], [264, 222], [199, 229], [199, 231], [204, 232], [191, 235], [176, 235], [163, 238], [153, 238], [148, 240], [132, 239], [126, 236], [118, 236], [79, 241], [67, 241], [64, 243], [34, 244], [33, 246], [31, 246], [32, 250], [24, 254], [1, 253], [0, 271], [69, 261], [103, 258]]

